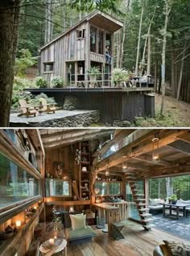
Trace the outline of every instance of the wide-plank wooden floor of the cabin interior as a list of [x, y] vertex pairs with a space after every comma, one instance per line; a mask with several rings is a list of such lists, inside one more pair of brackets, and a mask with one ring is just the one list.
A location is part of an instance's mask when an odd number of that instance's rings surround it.
[[183, 241], [190, 245], [189, 241], [157, 229], [146, 232], [141, 225], [132, 221], [127, 221], [122, 229], [125, 239], [119, 241], [109, 238], [108, 233], [103, 233], [101, 229], [94, 227], [94, 230], [97, 232], [97, 237], [93, 242], [68, 246], [68, 256], [152, 256], [155, 246], [163, 243], [163, 240]]

